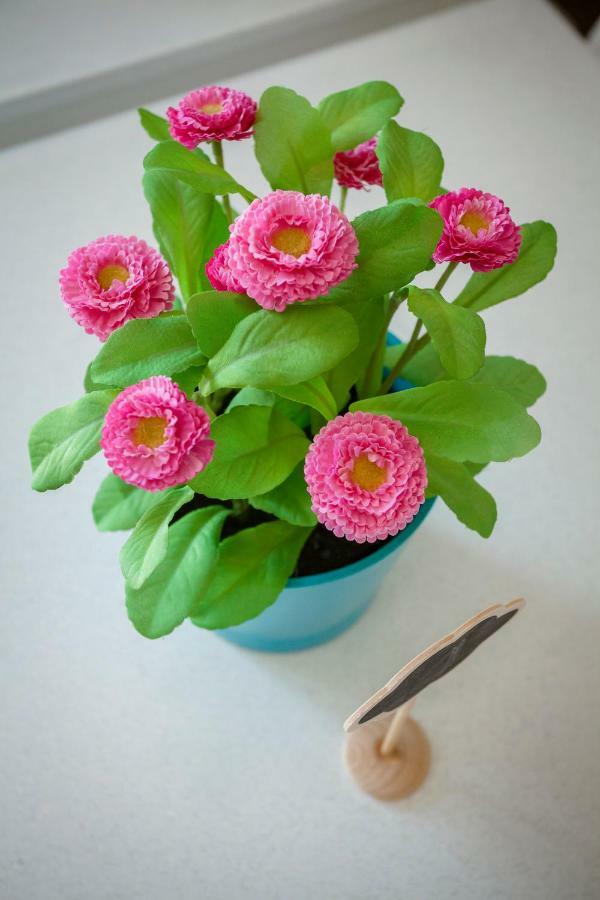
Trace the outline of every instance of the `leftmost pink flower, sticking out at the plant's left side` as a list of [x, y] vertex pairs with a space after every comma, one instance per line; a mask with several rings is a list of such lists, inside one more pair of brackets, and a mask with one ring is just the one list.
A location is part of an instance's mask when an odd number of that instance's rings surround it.
[[175, 288], [156, 250], [117, 234], [74, 250], [60, 272], [60, 292], [71, 315], [101, 341], [129, 319], [150, 319], [170, 309]]

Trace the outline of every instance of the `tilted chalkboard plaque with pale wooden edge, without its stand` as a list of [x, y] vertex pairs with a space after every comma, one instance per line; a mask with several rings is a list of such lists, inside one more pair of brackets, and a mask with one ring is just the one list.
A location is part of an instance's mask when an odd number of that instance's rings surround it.
[[382, 713], [393, 712], [403, 706], [427, 685], [442, 678], [470, 656], [483, 641], [506, 625], [523, 605], [523, 600], [513, 600], [505, 606], [490, 606], [423, 650], [346, 720], [346, 731], [353, 731]]

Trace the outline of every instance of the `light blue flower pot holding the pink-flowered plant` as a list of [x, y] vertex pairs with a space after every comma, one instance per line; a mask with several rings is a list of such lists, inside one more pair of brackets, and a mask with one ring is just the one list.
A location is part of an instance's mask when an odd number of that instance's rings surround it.
[[[399, 343], [391, 334], [387, 342]], [[407, 387], [412, 385], [403, 379], [394, 383], [397, 391]], [[396, 552], [425, 521], [434, 500], [426, 500], [412, 522], [370, 556], [330, 572], [290, 578], [275, 603], [259, 616], [217, 634], [268, 653], [305, 650], [337, 637], [371, 605]]]

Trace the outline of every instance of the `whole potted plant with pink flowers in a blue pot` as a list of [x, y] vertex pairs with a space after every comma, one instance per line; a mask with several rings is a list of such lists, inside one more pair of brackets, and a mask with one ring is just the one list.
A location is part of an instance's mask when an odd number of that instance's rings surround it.
[[[70, 482], [102, 450], [94, 518], [131, 530], [127, 610], [146, 637], [190, 619], [259, 649], [327, 640], [435, 497], [488, 537], [478, 472], [540, 440], [527, 407], [544, 379], [486, 356], [480, 314], [546, 276], [554, 229], [445, 190], [437, 144], [394, 119], [402, 102], [368, 82], [318, 107], [282, 87], [258, 106], [207, 87], [166, 119], [140, 110], [159, 250], [110, 235], [60, 273], [67, 311], [102, 345], [85, 394], [32, 429], [33, 487]], [[227, 171], [234, 140], [253, 140], [270, 193]], [[369, 185], [375, 208], [350, 221], [349, 192]], [[414, 284], [436, 266], [434, 288]], [[473, 274], [451, 299], [459, 266]], [[401, 304], [406, 343], [388, 333]]]

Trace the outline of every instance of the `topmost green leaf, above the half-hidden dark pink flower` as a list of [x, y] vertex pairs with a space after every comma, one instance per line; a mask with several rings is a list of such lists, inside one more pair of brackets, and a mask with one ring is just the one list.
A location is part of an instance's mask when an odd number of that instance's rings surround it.
[[395, 116], [404, 100], [387, 81], [367, 81], [347, 91], [330, 94], [319, 112], [331, 132], [334, 152], [352, 150], [377, 134]]

